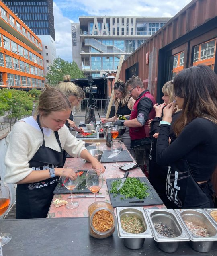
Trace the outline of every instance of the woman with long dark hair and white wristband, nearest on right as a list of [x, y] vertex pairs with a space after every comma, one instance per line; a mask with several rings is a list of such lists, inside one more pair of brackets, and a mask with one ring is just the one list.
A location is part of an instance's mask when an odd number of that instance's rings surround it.
[[[217, 166], [217, 75], [205, 65], [174, 78], [175, 100], [164, 108], [156, 147], [158, 164], [169, 164], [166, 193], [173, 208], [213, 207], [210, 178]], [[177, 139], [168, 145], [174, 107]]]

